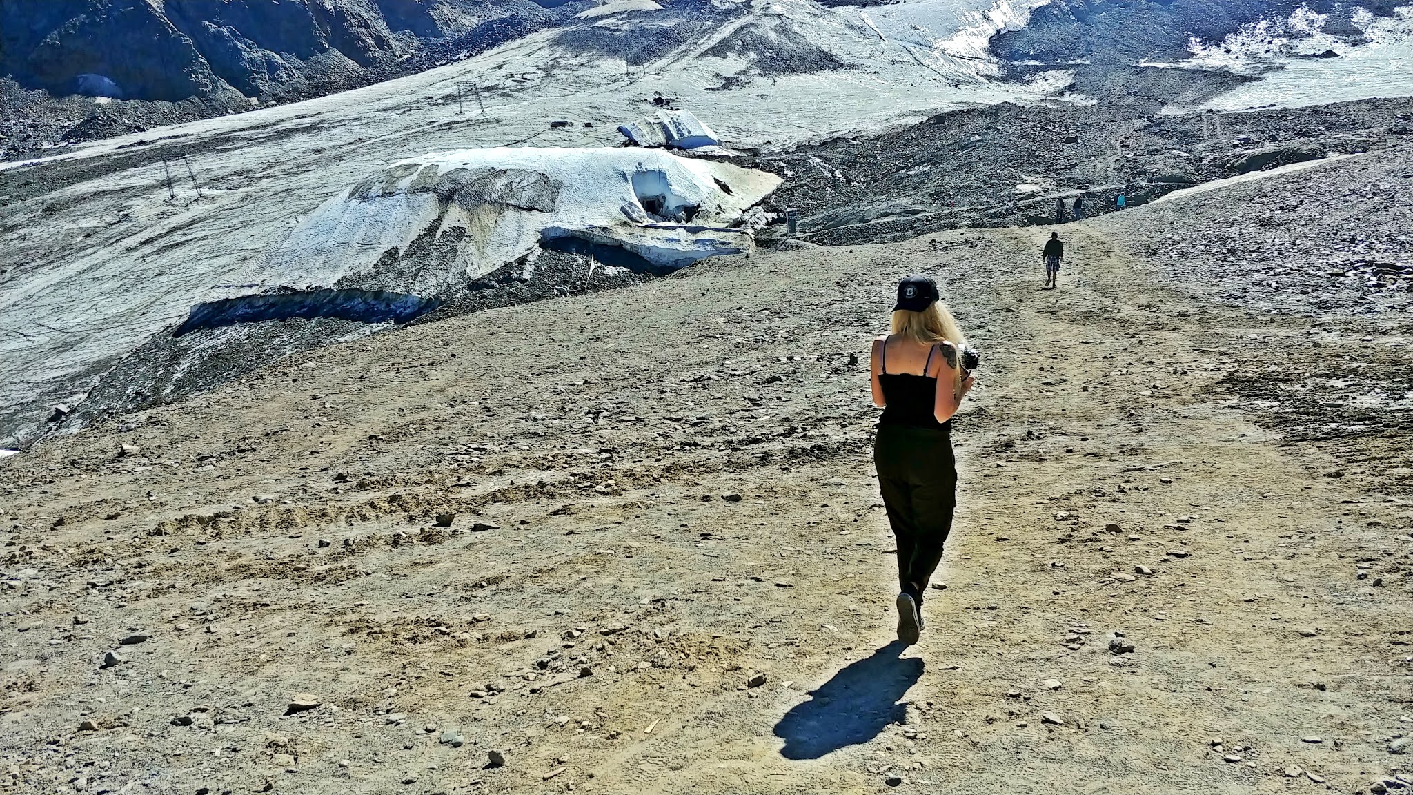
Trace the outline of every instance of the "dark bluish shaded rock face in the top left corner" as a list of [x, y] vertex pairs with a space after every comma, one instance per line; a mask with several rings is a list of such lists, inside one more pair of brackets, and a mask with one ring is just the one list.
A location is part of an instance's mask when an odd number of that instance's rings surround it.
[[421, 40], [459, 35], [471, 20], [526, 4], [0, 0], [0, 75], [55, 95], [177, 102], [229, 86], [264, 96], [305, 78], [309, 59], [332, 55], [373, 66], [415, 50]]

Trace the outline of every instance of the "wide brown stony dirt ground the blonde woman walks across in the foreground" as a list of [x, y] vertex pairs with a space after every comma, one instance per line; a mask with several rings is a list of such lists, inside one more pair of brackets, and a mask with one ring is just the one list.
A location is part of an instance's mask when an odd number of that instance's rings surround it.
[[[1409, 509], [1379, 472], [1323, 477], [1338, 461], [1218, 385], [1287, 355], [1252, 332], [1300, 321], [1186, 297], [1080, 225], [1041, 291], [1044, 236], [807, 248], [411, 327], [0, 464], [10, 782], [1211, 794], [1393, 772]], [[947, 588], [899, 649], [866, 349], [913, 270], [986, 358]], [[110, 649], [126, 662], [96, 671]], [[284, 716], [298, 692], [322, 704]], [[507, 762], [483, 770], [492, 748]]]

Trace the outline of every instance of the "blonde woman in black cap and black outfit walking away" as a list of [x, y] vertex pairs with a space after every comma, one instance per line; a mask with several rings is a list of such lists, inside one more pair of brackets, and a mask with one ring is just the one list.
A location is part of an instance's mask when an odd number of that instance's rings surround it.
[[873, 405], [883, 407], [873, 465], [897, 538], [897, 638], [916, 644], [923, 593], [942, 559], [957, 505], [951, 417], [975, 379], [961, 365], [966, 340], [938, 303], [937, 283], [897, 286], [892, 332], [873, 341]]

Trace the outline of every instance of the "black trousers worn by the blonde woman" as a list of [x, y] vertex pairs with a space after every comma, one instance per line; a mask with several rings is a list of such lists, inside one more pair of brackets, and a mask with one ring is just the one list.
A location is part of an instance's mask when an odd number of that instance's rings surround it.
[[897, 538], [899, 588], [921, 601], [942, 560], [957, 506], [957, 465], [947, 430], [879, 426], [873, 467]]

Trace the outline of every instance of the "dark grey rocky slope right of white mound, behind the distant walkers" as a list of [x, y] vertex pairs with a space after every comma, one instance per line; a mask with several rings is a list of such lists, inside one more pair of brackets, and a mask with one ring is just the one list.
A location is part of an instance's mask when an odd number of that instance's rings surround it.
[[[1095, 216], [1112, 212], [1119, 192], [1135, 205], [1211, 180], [1413, 140], [1406, 98], [1224, 115], [1221, 136], [1204, 134], [1201, 115], [1153, 110], [1147, 100], [1002, 103], [749, 163], [787, 177], [769, 207], [798, 212], [796, 239], [844, 245], [1048, 224], [1057, 199], [1067, 219], [1077, 198]], [[767, 239], [781, 242], [783, 226]]]

